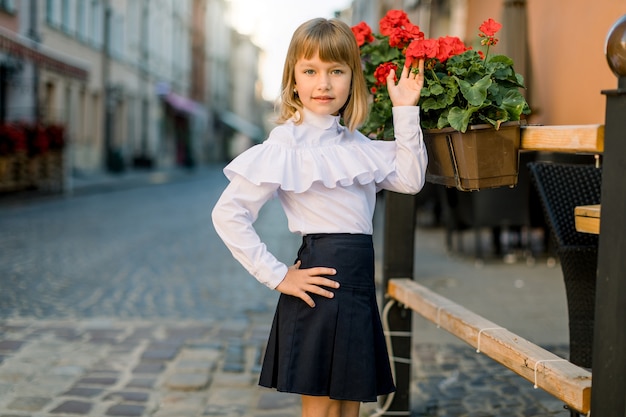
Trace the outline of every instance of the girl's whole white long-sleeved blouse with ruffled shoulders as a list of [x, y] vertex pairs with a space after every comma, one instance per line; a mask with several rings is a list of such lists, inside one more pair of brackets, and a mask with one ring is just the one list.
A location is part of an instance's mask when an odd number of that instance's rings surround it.
[[339, 116], [304, 112], [300, 125], [272, 130], [224, 168], [230, 184], [212, 218], [231, 253], [257, 280], [276, 288], [287, 273], [254, 230], [261, 207], [278, 197], [289, 230], [372, 234], [376, 192], [415, 194], [424, 185], [426, 148], [419, 107], [394, 107], [395, 141], [370, 140]]

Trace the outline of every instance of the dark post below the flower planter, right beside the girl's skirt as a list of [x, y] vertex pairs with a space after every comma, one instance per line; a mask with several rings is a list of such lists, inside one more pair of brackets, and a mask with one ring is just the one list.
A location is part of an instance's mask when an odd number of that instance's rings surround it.
[[[413, 277], [413, 256], [415, 248], [415, 197], [411, 195], [386, 192], [385, 227], [383, 249], [383, 288], [386, 291], [392, 278]], [[395, 358], [408, 361], [395, 362], [395, 383], [397, 391], [384, 416], [397, 416], [398, 412], [410, 415], [411, 387], [411, 310], [394, 304], [389, 310], [389, 331], [405, 336], [392, 336], [391, 346]], [[388, 398], [382, 401], [386, 403]]]

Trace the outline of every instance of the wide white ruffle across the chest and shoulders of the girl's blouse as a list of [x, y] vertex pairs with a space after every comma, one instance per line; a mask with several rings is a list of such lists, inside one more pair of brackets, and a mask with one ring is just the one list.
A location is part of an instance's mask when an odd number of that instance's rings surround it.
[[302, 193], [315, 182], [327, 188], [379, 183], [395, 170], [394, 142], [373, 141], [357, 132], [348, 135], [335, 143], [306, 146], [270, 136], [235, 158], [224, 174], [229, 180], [241, 175], [256, 185], [276, 184]]

